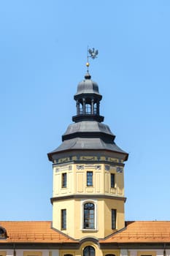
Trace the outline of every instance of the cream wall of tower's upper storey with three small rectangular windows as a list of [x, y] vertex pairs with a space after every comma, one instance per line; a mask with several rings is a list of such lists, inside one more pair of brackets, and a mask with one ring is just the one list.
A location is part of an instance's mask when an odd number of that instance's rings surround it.
[[[86, 173], [93, 171], [93, 187], [87, 186]], [[62, 173], [67, 173], [67, 187], [62, 187]], [[115, 188], [110, 187], [110, 173], [115, 173]], [[53, 197], [79, 194], [124, 196], [123, 173], [116, 166], [106, 170], [106, 165], [57, 165], [53, 167]]]

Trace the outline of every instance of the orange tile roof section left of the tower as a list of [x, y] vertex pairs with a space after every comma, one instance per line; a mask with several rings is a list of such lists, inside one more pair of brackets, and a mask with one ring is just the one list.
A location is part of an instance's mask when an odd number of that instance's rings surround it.
[[68, 238], [51, 228], [52, 222], [1, 222], [0, 226], [7, 230], [7, 239], [2, 243], [72, 243]]

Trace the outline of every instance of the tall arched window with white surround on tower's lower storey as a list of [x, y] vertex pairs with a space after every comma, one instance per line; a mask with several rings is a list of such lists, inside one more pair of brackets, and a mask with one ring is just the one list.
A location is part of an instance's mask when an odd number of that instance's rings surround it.
[[[84, 225], [83, 227], [86, 229], [94, 229], [94, 204], [93, 203], [85, 203], [84, 204]], [[92, 247], [93, 248], [93, 247]]]

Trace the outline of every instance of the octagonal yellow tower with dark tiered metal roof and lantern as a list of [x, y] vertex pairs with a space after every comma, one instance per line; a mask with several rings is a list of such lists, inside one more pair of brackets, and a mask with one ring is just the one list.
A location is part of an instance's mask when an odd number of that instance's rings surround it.
[[53, 228], [75, 239], [105, 238], [125, 227], [125, 153], [100, 116], [101, 94], [89, 72], [74, 95], [77, 115], [48, 154], [53, 162]]

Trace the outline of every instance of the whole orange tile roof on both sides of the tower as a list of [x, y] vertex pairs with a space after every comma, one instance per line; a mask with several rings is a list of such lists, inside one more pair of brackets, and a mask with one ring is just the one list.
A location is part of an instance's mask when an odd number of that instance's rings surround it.
[[[77, 243], [51, 228], [52, 222], [0, 222], [7, 230], [3, 243]], [[170, 221], [126, 222], [126, 227], [100, 243], [170, 243]]]

